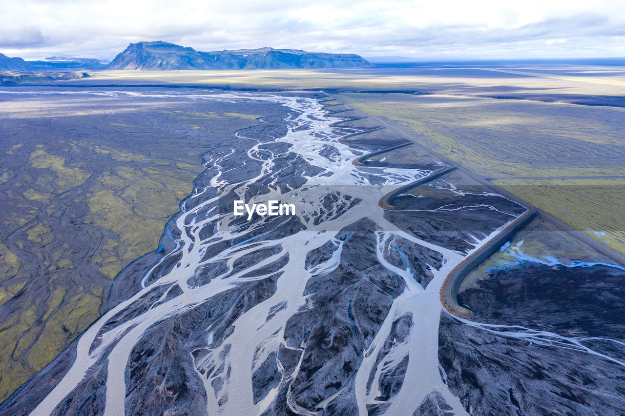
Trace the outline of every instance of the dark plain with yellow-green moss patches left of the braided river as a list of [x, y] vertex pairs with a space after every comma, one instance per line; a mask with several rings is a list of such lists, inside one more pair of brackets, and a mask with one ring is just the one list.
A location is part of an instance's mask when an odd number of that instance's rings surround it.
[[0, 401], [101, 314], [119, 270], [158, 248], [204, 170], [199, 155], [267, 110], [61, 94], [2, 101]]

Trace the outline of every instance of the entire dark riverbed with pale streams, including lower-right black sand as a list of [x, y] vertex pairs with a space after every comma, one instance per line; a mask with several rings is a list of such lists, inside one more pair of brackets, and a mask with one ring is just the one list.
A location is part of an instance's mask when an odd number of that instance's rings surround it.
[[[521, 202], [327, 98], [135, 94], [276, 115], [208, 144], [158, 252], [118, 275], [103, 315], [2, 414], [622, 407], [622, 325], [609, 311], [622, 308], [623, 275], [601, 252], [532, 222], [467, 276], [458, 297], [474, 315], [454, 317], [444, 280]], [[296, 214], [247, 221], [232, 215], [237, 199], [294, 201]]]

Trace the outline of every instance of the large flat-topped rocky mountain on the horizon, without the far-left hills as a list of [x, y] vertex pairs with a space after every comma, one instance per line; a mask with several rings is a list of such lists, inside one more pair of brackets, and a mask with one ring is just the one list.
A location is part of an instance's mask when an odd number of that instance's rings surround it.
[[355, 54], [326, 54], [296, 49], [239, 49], [199, 52], [168, 42], [131, 43], [108, 69], [289, 69], [370, 66]]

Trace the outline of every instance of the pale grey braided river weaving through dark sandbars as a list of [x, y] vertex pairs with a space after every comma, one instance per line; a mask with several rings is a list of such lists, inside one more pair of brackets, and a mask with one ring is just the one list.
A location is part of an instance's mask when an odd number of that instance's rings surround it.
[[[141, 290], [81, 335], [71, 368], [31, 415], [64, 414], [72, 400], [98, 397], [106, 416], [170, 405], [178, 408], [168, 414], [199, 406], [209, 415], [412, 415], [431, 394], [467, 414], [441, 373], [439, 290], [454, 266], [524, 208], [484, 192], [469, 203], [389, 216], [381, 197], [431, 171], [354, 166], [366, 151], [339, 141], [346, 129], [331, 124], [341, 119], [326, 116], [318, 99], [175, 96], [272, 102], [289, 115], [261, 119], [205, 155], [207, 171], [168, 224], [173, 249], [146, 270]], [[248, 221], [233, 215], [235, 200], [286, 201], [296, 213]], [[484, 224], [453, 229], [456, 212], [479, 212]], [[431, 215], [428, 224], [444, 238], [412, 232], [419, 224], [414, 216], [399, 220], [405, 213]], [[437, 215], [452, 219], [437, 223]], [[562, 342], [516, 329], [504, 332]], [[157, 376], [162, 384], [154, 386]]]

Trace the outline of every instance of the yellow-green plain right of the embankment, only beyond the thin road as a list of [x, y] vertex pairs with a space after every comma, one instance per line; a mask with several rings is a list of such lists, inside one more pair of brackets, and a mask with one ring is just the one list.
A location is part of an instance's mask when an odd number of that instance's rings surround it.
[[622, 109], [413, 94], [339, 94], [485, 177], [619, 176]]

